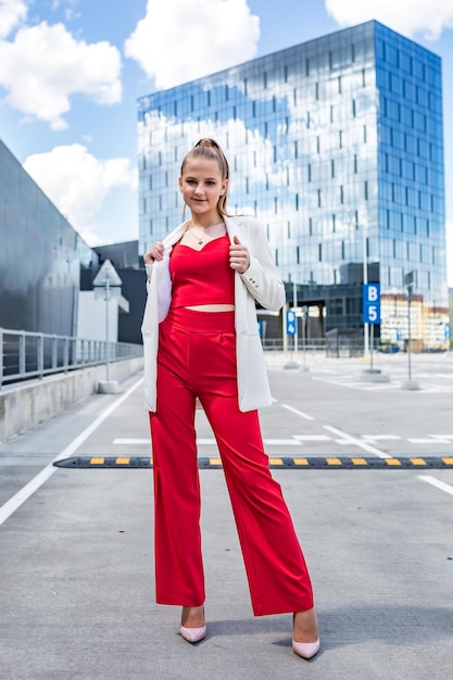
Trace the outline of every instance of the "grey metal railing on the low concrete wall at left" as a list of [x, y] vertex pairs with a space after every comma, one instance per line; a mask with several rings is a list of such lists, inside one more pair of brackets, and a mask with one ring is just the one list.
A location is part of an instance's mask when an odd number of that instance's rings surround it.
[[134, 358], [141, 344], [84, 340], [0, 328], [0, 389], [2, 385], [43, 378], [54, 373]]

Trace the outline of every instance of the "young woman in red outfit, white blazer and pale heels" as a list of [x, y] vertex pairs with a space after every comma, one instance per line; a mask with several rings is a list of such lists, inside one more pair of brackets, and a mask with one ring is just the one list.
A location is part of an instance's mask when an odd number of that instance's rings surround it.
[[190, 219], [144, 255], [142, 335], [154, 475], [160, 604], [183, 606], [180, 634], [206, 634], [194, 413], [200, 400], [222, 457], [253, 613], [293, 613], [293, 651], [319, 648], [309, 571], [263, 450], [257, 408], [272, 403], [255, 301], [278, 311], [285, 288], [265, 232], [226, 210], [229, 168], [201, 139], [183, 161]]

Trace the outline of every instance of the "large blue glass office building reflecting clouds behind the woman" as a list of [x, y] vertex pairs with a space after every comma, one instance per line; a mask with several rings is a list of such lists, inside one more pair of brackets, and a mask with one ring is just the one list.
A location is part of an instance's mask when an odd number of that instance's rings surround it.
[[361, 329], [443, 347], [448, 323], [440, 59], [377, 22], [139, 100], [140, 253], [181, 222], [180, 162], [214, 137], [229, 211], [256, 215], [309, 335]]

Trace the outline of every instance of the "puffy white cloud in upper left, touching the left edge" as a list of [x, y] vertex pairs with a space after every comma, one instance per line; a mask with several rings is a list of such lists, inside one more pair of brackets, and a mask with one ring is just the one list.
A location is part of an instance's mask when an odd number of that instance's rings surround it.
[[98, 104], [121, 101], [119, 76], [114, 46], [76, 40], [63, 24], [42, 22], [20, 29], [11, 42], [0, 40], [0, 85], [9, 92], [8, 103], [53, 129], [67, 127], [62, 114], [75, 93]]

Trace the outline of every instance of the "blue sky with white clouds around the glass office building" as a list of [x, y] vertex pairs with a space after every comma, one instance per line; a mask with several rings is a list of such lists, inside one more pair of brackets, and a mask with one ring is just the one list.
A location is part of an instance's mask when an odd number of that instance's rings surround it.
[[453, 286], [453, 0], [0, 0], [0, 139], [89, 245], [137, 239], [139, 97], [372, 18], [442, 58]]

